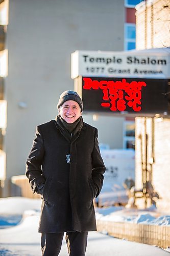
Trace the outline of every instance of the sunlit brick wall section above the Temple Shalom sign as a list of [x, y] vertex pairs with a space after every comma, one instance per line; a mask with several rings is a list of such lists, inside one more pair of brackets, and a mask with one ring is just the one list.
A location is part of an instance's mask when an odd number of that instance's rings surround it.
[[169, 20], [168, 0], [140, 3], [136, 7], [136, 49], [169, 47]]

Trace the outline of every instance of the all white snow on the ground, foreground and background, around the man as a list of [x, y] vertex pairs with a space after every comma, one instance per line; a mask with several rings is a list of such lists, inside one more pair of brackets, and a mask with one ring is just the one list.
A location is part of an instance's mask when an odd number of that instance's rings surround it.
[[[36, 203], [35, 203], [36, 201]], [[9, 203], [10, 202], [10, 203]], [[18, 225], [0, 229], [0, 255], [20, 255], [20, 256], [40, 256], [40, 234], [37, 232], [40, 217], [40, 204], [41, 200], [27, 199], [27, 198], [7, 198], [0, 199], [0, 209], [5, 215], [5, 212], [9, 215], [12, 212], [24, 212], [23, 219]], [[14, 210], [13, 207], [17, 206]], [[7, 209], [6, 209], [7, 207]], [[28, 209], [30, 208], [30, 210]], [[25, 210], [26, 209], [26, 210]], [[132, 220], [135, 216], [138, 216], [137, 210], [131, 211], [123, 207], [110, 207], [107, 209], [96, 209], [96, 217], [106, 218], [108, 214], [117, 214], [117, 217], [127, 217]], [[1, 219], [0, 214], [0, 219]], [[99, 216], [98, 216], [99, 215]], [[150, 216], [150, 214], [148, 214]], [[156, 213], [153, 218], [158, 214]], [[102, 216], [102, 217], [101, 217]], [[141, 218], [142, 214], [139, 211], [138, 219]], [[148, 218], [150, 219], [150, 217]], [[113, 216], [112, 216], [113, 217]], [[151, 220], [152, 221], [152, 220]], [[162, 222], [162, 220], [161, 220]], [[88, 245], [86, 256], [166, 256], [169, 255], [167, 251], [163, 251], [157, 247], [129, 242], [126, 240], [115, 239], [105, 234], [98, 232], [89, 232]], [[66, 256], [67, 247], [65, 238], [63, 238], [63, 245], [60, 252], [60, 256]]]

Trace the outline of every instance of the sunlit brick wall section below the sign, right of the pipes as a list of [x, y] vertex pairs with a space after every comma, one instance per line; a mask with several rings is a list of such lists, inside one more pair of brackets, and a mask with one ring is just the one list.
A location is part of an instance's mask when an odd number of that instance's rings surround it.
[[158, 207], [170, 211], [170, 119], [155, 119], [153, 184], [161, 197]]

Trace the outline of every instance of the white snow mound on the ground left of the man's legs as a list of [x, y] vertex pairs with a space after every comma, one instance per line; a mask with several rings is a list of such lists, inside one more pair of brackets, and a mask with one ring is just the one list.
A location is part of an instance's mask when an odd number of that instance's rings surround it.
[[40, 216], [36, 211], [34, 214], [14, 227], [0, 229], [0, 255], [41, 255], [40, 233], [37, 232]]

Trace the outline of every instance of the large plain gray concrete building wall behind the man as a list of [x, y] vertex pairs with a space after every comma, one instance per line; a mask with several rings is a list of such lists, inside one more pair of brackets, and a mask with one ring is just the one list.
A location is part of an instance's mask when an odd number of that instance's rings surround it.
[[[13, 175], [25, 173], [35, 126], [54, 119], [59, 95], [74, 89], [70, 78], [71, 52], [123, 50], [124, 21], [124, 0], [9, 1], [4, 143], [7, 181]], [[24, 102], [26, 108], [20, 108], [19, 102]], [[93, 124], [90, 115], [84, 119]], [[112, 147], [122, 147], [122, 123], [123, 118], [101, 117], [95, 123], [100, 142], [111, 141]], [[9, 191], [3, 190], [3, 195], [8, 196]]]

